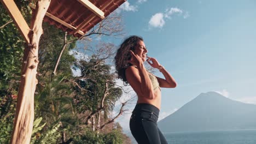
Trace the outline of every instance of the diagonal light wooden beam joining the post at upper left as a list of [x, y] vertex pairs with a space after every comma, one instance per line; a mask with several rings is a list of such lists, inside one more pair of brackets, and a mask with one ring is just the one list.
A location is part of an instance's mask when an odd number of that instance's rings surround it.
[[20, 10], [13, 0], [0, 0], [4, 5], [5, 9], [8, 11], [11, 19], [13, 19], [16, 27], [18, 27], [21, 35], [24, 37], [27, 44], [30, 43], [28, 38], [28, 33], [30, 32], [30, 27], [28, 27], [27, 22], [24, 17], [21, 15]]

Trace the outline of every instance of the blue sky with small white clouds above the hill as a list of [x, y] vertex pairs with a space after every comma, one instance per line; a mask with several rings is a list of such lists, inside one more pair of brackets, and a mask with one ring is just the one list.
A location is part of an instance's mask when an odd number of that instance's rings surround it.
[[[209, 91], [256, 104], [255, 7], [255, 0], [140, 0], [121, 5], [117, 11], [123, 14], [126, 36], [141, 35], [148, 55], [178, 83], [174, 89], [162, 88], [161, 118]], [[112, 41], [120, 45], [122, 39]], [[129, 117], [118, 119], [125, 130]]]

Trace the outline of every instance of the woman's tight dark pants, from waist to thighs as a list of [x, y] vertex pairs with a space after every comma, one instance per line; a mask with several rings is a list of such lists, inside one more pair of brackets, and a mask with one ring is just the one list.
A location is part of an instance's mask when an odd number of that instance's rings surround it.
[[164, 135], [158, 128], [159, 109], [150, 104], [137, 104], [132, 111], [130, 130], [139, 144], [165, 144]]

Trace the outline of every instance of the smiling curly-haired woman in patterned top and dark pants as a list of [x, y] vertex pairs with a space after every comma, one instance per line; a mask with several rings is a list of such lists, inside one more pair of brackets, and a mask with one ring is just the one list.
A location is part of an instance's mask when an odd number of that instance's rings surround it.
[[[133, 35], [120, 45], [115, 56], [115, 68], [118, 77], [126, 85], [129, 83], [138, 96], [130, 119], [130, 130], [136, 141], [167, 143], [157, 125], [161, 105], [160, 87], [174, 88], [176, 81], [155, 58], [147, 57], [147, 52], [143, 39]], [[144, 67], [145, 61], [159, 69], [165, 79], [149, 73]]]

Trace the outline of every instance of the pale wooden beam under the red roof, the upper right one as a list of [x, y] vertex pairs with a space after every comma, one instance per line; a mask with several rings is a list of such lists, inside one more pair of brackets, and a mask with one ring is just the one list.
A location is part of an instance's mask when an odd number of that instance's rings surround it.
[[83, 4], [86, 8], [90, 9], [92, 11], [92, 13], [94, 13], [95, 15], [97, 15], [98, 17], [101, 17], [101, 19], [104, 19], [104, 12], [102, 10], [100, 10], [99, 8], [97, 8], [94, 4], [92, 4], [90, 1], [88, 0], [77, 0], [79, 3]]

